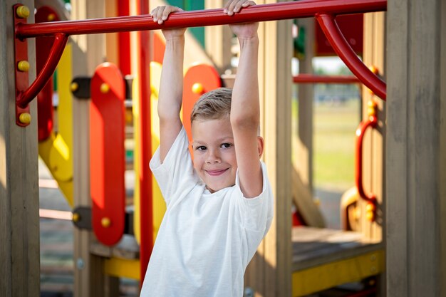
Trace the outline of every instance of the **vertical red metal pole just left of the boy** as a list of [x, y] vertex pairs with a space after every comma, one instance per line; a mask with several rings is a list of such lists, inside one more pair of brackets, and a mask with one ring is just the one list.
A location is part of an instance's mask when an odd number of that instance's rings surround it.
[[[149, 1], [138, 1], [140, 14], [148, 14]], [[150, 172], [149, 162], [152, 156], [152, 127], [150, 117], [150, 46], [148, 31], [141, 31], [138, 34], [138, 53], [140, 61], [138, 63], [139, 78], [139, 177], [140, 182], [140, 286], [144, 281], [145, 271], [149, 264], [153, 247], [153, 213], [152, 213], [152, 172]]]

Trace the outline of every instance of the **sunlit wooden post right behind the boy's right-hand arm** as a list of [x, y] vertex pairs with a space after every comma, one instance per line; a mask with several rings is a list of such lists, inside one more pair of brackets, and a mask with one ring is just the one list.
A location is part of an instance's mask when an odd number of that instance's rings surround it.
[[291, 24], [269, 21], [259, 27], [261, 132], [274, 220], [245, 280], [262, 297], [291, 296]]

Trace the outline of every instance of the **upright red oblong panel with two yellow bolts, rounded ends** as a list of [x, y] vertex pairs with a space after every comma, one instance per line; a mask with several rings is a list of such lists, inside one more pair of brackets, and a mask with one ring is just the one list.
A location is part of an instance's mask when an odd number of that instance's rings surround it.
[[93, 231], [116, 244], [125, 224], [125, 83], [117, 66], [103, 63], [91, 79], [90, 194]]

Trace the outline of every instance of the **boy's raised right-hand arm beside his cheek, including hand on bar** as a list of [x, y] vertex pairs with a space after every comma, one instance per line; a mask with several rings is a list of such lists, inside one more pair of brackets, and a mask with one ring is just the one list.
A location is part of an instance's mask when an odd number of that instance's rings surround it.
[[[231, 16], [254, 1], [228, 1], [224, 11]], [[232, 90], [231, 125], [234, 133], [234, 147], [239, 170], [240, 187], [244, 197], [261, 194], [263, 177], [259, 155], [263, 150], [263, 140], [257, 137], [260, 123], [259, 82], [257, 78], [259, 24], [232, 25], [232, 31], [240, 43], [239, 66]]]

